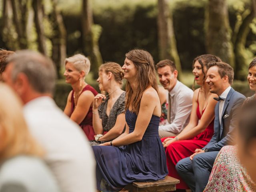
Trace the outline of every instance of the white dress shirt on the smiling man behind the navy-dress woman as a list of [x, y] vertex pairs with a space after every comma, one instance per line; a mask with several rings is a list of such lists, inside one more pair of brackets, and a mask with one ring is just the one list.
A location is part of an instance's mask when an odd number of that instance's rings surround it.
[[189, 122], [189, 117], [192, 110], [193, 91], [182, 82], [177, 81], [176, 85], [169, 92], [169, 94], [172, 102], [170, 114], [171, 124], [161, 125], [159, 126], [159, 130], [178, 134]]

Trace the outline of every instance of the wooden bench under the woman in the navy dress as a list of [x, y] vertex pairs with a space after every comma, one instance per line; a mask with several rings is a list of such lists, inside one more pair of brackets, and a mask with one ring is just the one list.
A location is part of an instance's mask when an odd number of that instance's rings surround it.
[[180, 180], [166, 176], [163, 180], [154, 182], [133, 182], [124, 188], [129, 192], [166, 192], [175, 191], [178, 183]]

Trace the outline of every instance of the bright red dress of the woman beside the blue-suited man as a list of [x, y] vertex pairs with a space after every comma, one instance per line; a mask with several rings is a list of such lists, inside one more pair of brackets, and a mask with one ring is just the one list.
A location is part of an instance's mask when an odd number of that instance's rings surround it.
[[[198, 119], [201, 119], [202, 115], [200, 114], [199, 110], [199, 103], [197, 102], [198, 107], [196, 109], [196, 114]], [[204, 113], [204, 110], [202, 111], [202, 114]], [[171, 143], [168, 147], [166, 147], [166, 162], [167, 162], [167, 168], [169, 171], [169, 176], [174, 177], [176, 179], [180, 180], [180, 183], [176, 185], [177, 189], [189, 189], [186, 183], [180, 178], [178, 175], [175, 166], [178, 163], [179, 160], [182, 160], [186, 157], [189, 157], [190, 155], [194, 154], [194, 151], [198, 148], [201, 149], [208, 142], [211, 140], [212, 136], [214, 134], [214, 120], [208, 125], [206, 130], [204, 132], [198, 134], [194, 138], [190, 140], [180, 140]], [[166, 137], [167, 138], [167, 137]], [[161, 141], [163, 142], [166, 138], [162, 138]], [[174, 138], [174, 137], [172, 137]]]

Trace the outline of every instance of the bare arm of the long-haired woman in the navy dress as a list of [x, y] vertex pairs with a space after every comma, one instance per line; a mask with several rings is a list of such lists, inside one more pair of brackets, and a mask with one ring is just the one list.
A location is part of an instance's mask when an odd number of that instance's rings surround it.
[[[152, 114], [154, 113], [154, 110], [156, 109], [156, 106], [158, 104], [160, 107], [160, 100], [156, 91], [150, 88], [147, 89], [142, 95], [140, 110], [138, 113], [134, 131], [130, 134], [126, 134], [122, 137], [120, 136], [116, 138], [112, 142], [112, 144], [114, 146], [123, 146], [142, 140], [142, 137], [152, 117]], [[160, 116], [160, 110], [158, 116]], [[127, 124], [126, 128], [128, 128]], [[105, 143], [105, 145], [109, 145], [109, 142]]]

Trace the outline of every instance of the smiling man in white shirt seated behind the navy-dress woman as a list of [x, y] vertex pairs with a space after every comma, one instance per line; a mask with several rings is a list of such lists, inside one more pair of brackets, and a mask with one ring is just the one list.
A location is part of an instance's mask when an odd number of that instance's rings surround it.
[[178, 81], [178, 71], [174, 62], [162, 60], [156, 64], [159, 81], [168, 90], [168, 124], [159, 126], [159, 136], [176, 136], [188, 124], [192, 110], [193, 91]]

